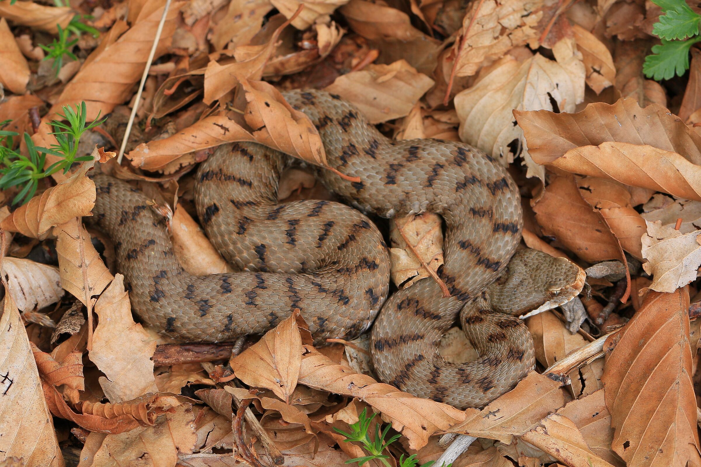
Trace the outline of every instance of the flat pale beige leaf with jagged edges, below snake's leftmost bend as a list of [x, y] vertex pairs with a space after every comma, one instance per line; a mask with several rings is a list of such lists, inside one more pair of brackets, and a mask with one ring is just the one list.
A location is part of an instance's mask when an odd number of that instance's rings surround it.
[[100, 321], [93, 333], [90, 360], [105, 376], [100, 386], [111, 403], [156, 392], [154, 361], [156, 342], [134, 322], [124, 277], [117, 274], [95, 303]]

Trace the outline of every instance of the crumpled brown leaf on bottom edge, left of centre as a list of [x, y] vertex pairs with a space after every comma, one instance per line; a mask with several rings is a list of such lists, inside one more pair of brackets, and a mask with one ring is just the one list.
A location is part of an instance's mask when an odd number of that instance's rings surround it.
[[181, 404], [174, 412], [160, 417], [154, 426], [107, 435], [93, 454], [93, 462], [81, 467], [175, 466], [178, 454], [191, 454], [197, 441], [195, 429], [192, 406]]

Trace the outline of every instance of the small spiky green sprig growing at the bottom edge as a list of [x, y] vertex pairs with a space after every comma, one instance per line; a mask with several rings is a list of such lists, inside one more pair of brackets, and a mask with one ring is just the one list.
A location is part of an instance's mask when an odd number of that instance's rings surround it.
[[[383, 429], [380, 432], [381, 424], [378, 423], [375, 425], [375, 437], [374, 440], [370, 439], [369, 436], [369, 428], [370, 428], [370, 423], [372, 422], [372, 419], [375, 418], [376, 412], [373, 412], [373, 414], [368, 417], [367, 416], [367, 408], [363, 409], [360, 415], [358, 416], [358, 421], [355, 422], [352, 425], [348, 425], [351, 428], [351, 433], [346, 433], [345, 431], [339, 430], [339, 428], [336, 428], [334, 426], [334, 430], [337, 431], [338, 433], [341, 433], [341, 435], [345, 436], [346, 439], [343, 440], [343, 442], [360, 442], [362, 444], [362, 447], [365, 448], [365, 450], [369, 453], [367, 456], [362, 456], [362, 457], [356, 457], [355, 459], [350, 459], [346, 461], [346, 463], [353, 463], [353, 462], [358, 462], [358, 466], [362, 466], [362, 464], [366, 463], [367, 461], [372, 461], [373, 459], [379, 459], [386, 467], [390, 467], [390, 463], [387, 461], [387, 459], [390, 458], [387, 454], [382, 454], [387, 447], [398, 440], [402, 435], [393, 435], [391, 438], [385, 441], [385, 438], [387, 437], [387, 434], [390, 431], [390, 428], [392, 428], [392, 424], [388, 424], [385, 429]], [[399, 458], [399, 462], [397, 463], [398, 466], [400, 467], [416, 467], [418, 466], [418, 461], [416, 460], [416, 454], [411, 454], [411, 456], [407, 457], [404, 459], [404, 454], [402, 454]], [[421, 467], [431, 467], [433, 465], [433, 461], [429, 461], [427, 463], [424, 463]], [[444, 466], [444, 467], [451, 467], [449, 466]]]

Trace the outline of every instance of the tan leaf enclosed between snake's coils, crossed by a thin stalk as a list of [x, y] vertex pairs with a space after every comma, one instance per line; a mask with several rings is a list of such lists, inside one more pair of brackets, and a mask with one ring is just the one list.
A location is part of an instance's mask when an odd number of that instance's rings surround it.
[[[393, 245], [393, 248], [390, 248], [390, 264], [392, 280], [397, 286], [401, 286], [410, 278], [411, 280], [404, 284], [404, 287], [409, 287], [424, 277], [430, 277], [428, 271], [421, 265], [421, 261], [414, 255], [414, 251], [434, 272], [443, 265], [441, 223], [440, 216], [430, 212], [390, 221], [390, 241]], [[412, 248], [407, 246], [400, 230], [409, 240]]]

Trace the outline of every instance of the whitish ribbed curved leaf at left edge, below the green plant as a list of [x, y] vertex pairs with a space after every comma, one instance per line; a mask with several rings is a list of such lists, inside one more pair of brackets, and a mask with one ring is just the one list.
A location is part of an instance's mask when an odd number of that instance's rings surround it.
[[55, 266], [7, 257], [3, 268], [10, 293], [22, 312], [51, 305], [64, 294]]

